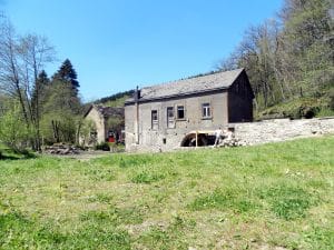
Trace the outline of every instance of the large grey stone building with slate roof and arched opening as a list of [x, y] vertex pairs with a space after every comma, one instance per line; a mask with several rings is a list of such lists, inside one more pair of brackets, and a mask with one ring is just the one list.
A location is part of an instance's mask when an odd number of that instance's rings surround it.
[[253, 99], [244, 69], [138, 89], [125, 103], [126, 150], [213, 143], [215, 129], [253, 120]]

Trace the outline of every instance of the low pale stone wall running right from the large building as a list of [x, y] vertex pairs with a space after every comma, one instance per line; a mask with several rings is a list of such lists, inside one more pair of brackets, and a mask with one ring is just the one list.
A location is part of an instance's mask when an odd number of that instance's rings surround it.
[[246, 144], [285, 141], [294, 138], [334, 133], [334, 117], [315, 119], [273, 119], [259, 122], [229, 123], [235, 137]]

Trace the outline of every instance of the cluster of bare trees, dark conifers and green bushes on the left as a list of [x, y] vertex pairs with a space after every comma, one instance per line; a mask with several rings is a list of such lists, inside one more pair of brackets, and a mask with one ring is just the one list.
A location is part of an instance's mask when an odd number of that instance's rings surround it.
[[78, 143], [84, 107], [70, 60], [49, 78], [55, 50], [47, 38], [17, 33], [3, 14], [0, 34], [0, 142], [14, 151]]

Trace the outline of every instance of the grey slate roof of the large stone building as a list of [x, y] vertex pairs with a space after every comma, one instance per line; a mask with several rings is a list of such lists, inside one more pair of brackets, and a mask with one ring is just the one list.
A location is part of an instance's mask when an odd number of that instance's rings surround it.
[[[244, 69], [236, 69], [216, 72], [213, 74], [145, 87], [140, 90], [140, 101], [227, 89], [234, 83], [243, 70]], [[134, 101], [135, 99], [130, 98], [126, 103], [131, 103]]]

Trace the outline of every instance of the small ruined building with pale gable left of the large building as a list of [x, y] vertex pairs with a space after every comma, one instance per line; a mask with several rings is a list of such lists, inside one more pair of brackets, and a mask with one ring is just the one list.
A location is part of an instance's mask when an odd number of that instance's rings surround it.
[[84, 134], [80, 143], [95, 146], [101, 142], [122, 141], [124, 108], [92, 104], [86, 112]]

